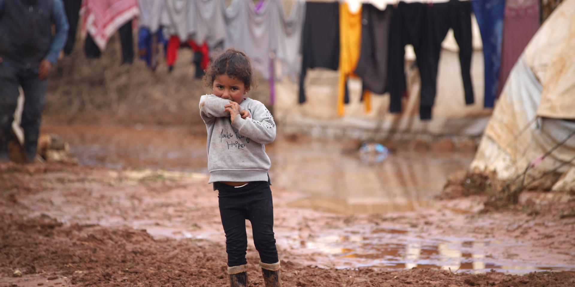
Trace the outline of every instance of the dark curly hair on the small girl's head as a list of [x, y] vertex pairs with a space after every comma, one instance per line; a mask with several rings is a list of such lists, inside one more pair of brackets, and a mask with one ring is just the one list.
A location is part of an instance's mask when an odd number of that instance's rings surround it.
[[228, 75], [228, 77], [239, 79], [246, 87], [255, 87], [255, 75], [250, 57], [239, 50], [229, 48], [223, 53], [214, 56], [210, 61], [205, 75], [202, 78], [206, 87], [212, 87], [217, 75]]

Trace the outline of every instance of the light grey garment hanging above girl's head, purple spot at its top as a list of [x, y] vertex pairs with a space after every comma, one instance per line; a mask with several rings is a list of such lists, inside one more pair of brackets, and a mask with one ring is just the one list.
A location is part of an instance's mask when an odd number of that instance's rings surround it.
[[247, 0], [235, 0], [225, 12], [228, 36], [224, 46], [246, 52], [254, 68], [269, 79], [270, 52], [276, 51], [274, 10], [279, 0], [268, 0], [259, 11]]

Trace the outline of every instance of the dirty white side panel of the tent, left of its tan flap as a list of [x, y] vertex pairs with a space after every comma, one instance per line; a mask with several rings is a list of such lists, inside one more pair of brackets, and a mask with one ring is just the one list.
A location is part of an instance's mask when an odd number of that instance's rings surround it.
[[[538, 162], [540, 156], [575, 130], [573, 121], [537, 117], [542, 90], [542, 85], [521, 56], [485, 129], [471, 163], [472, 170], [494, 171], [499, 179], [511, 179], [528, 165], [537, 164], [534, 166], [537, 170], [546, 171], [573, 157], [575, 137], [554, 150], [549, 158]], [[565, 165], [558, 171], [565, 172], [572, 166], [573, 163]]]

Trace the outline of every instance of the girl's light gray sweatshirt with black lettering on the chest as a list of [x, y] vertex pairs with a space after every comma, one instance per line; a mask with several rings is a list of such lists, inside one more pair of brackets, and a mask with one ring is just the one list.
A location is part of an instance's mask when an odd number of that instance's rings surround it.
[[208, 183], [267, 181], [271, 161], [264, 145], [275, 139], [274, 118], [261, 102], [247, 98], [240, 107], [251, 118], [236, 115], [232, 123], [226, 104], [229, 100], [215, 95], [200, 98], [200, 116], [208, 130]]

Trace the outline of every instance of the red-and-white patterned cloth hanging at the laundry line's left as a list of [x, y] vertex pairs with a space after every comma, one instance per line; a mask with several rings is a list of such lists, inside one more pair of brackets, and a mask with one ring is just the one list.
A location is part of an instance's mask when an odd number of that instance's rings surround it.
[[108, 39], [139, 14], [136, 0], [83, 0], [80, 9], [82, 36], [90, 33], [99, 50], [104, 51]]

